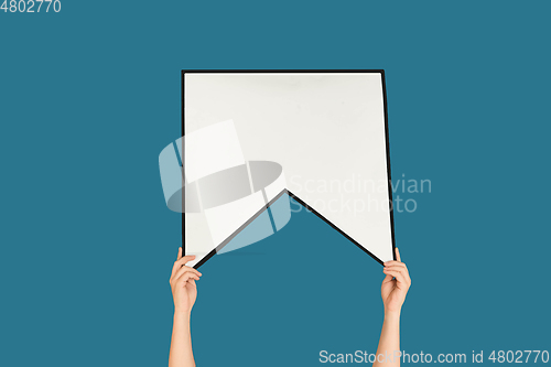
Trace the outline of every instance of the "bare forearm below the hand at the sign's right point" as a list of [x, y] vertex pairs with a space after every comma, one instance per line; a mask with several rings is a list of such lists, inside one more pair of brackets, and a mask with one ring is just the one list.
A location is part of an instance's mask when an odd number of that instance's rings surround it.
[[385, 313], [374, 367], [400, 366], [400, 312]]

